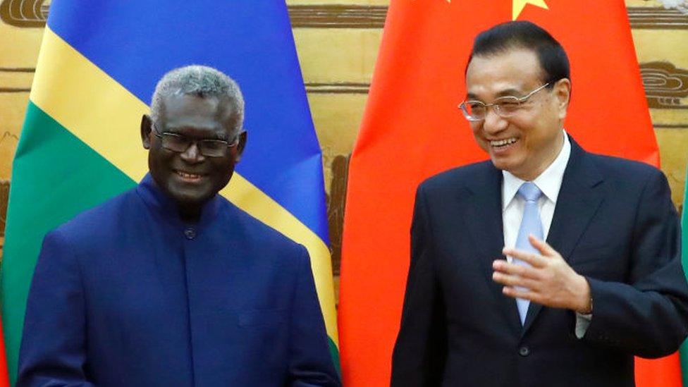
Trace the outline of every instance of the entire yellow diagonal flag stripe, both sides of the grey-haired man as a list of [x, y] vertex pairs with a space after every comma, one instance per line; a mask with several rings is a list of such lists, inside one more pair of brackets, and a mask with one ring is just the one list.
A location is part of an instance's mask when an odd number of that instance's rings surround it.
[[[147, 152], [140, 137], [141, 116], [147, 104], [73, 49], [49, 27], [45, 28], [31, 101], [134, 181], [148, 171]], [[319, 236], [252, 185], [239, 173], [221, 195], [259, 221], [304, 245], [328, 336], [338, 344], [332, 264]]]

